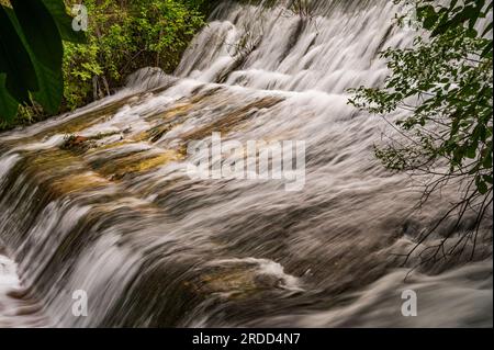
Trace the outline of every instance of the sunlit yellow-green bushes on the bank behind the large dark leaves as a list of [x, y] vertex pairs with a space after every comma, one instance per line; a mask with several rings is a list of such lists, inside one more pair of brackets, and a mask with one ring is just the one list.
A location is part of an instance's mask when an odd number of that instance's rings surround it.
[[171, 72], [204, 24], [198, 1], [88, 0], [85, 5], [89, 43], [65, 45], [64, 95], [68, 109], [111, 93], [138, 68], [157, 66]]

